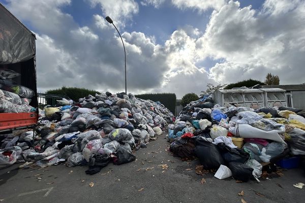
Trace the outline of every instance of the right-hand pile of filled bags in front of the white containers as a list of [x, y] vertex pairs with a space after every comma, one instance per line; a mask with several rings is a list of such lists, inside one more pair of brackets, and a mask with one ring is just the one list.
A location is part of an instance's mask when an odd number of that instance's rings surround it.
[[184, 107], [168, 125], [170, 151], [182, 159], [197, 157], [220, 179], [257, 181], [261, 163], [305, 155], [305, 118], [287, 107], [252, 109], [214, 104], [210, 95]]

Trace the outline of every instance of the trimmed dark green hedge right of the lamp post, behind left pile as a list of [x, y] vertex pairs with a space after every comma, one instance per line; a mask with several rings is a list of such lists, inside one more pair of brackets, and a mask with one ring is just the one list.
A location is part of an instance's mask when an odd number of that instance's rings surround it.
[[150, 99], [153, 101], [160, 101], [166, 108], [168, 108], [173, 114], [176, 110], [176, 94], [174, 93], [155, 93], [155, 94], [138, 94], [135, 95], [141, 99]]

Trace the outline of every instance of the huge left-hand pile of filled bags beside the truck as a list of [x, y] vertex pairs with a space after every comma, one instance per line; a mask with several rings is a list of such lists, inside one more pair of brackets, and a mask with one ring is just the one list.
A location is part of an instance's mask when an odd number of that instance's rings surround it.
[[68, 166], [89, 165], [98, 173], [110, 161], [135, 160], [133, 150], [145, 148], [174, 115], [160, 103], [133, 94], [106, 92], [80, 98], [78, 103], [58, 100], [56, 107], [39, 112], [36, 130], [15, 130], [0, 136], [0, 167], [24, 162], [41, 167], [67, 161]]

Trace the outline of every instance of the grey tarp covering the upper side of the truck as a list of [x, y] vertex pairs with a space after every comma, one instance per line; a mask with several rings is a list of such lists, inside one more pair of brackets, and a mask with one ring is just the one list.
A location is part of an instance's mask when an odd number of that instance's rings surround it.
[[35, 35], [0, 4], [0, 64], [29, 60], [35, 56]]

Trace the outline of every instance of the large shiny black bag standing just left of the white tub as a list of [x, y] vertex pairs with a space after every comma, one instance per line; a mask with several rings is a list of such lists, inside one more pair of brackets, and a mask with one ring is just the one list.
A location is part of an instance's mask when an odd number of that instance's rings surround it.
[[205, 169], [217, 169], [225, 164], [219, 149], [211, 142], [212, 139], [196, 139], [196, 155]]

